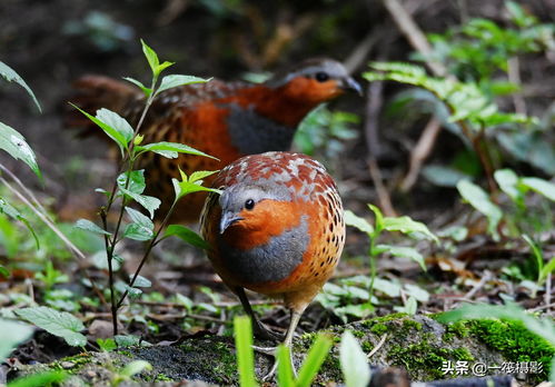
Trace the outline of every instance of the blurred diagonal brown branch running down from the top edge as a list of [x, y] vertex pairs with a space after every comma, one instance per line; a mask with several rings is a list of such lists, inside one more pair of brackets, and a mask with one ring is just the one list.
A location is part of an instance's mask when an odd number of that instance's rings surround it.
[[414, 21], [410, 13], [408, 13], [398, 0], [383, 0], [384, 6], [389, 11], [393, 20], [405, 34], [410, 44], [426, 58], [426, 64], [436, 76], [445, 77], [447, 69], [440, 62], [432, 59], [432, 46], [420, 28]]

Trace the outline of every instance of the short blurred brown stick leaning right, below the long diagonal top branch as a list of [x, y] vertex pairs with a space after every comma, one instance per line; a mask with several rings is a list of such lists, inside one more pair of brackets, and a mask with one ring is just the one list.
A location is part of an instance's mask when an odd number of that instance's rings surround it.
[[408, 168], [408, 172], [400, 183], [402, 191], [408, 192], [415, 185], [416, 179], [420, 173], [422, 165], [428, 158], [432, 149], [434, 148], [437, 135], [439, 135], [440, 130], [442, 123], [437, 118], [433, 117], [424, 128], [424, 131], [422, 132], [420, 138], [416, 143], [416, 147], [414, 147], [413, 151], [410, 152], [410, 165]]

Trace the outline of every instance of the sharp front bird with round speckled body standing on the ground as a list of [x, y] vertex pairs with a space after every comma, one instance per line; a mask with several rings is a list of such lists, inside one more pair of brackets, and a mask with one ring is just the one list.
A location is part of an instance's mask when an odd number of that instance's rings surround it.
[[[245, 289], [280, 298], [290, 312], [291, 348], [303, 312], [331, 277], [345, 245], [343, 204], [324, 166], [303, 153], [242, 157], [216, 177], [200, 218], [208, 258], [239, 298], [259, 338], [276, 337]], [[275, 373], [276, 364], [270, 373]]]

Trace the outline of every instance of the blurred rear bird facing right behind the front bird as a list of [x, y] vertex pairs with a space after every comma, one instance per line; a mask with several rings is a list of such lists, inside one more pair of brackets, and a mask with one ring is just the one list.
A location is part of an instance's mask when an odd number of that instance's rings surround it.
[[[116, 111], [136, 125], [145, 107], [142, 91], [130, 83], [103, 76], [85, 76], [73, 83], [72, 102], [89, 113], [99, 108]], [[333, 59], [308, 59], [276, 73], [264, 83], [221, 81], [177, 87], [160, 92], [142, 123], [142, 143], [181, 142], [216, 159], [180, 155], [167, 159], [145, 153], [137, 168], [145, 169], [147, 190], [162, 200], [157, 214], [168, 210], [174, 200], [172, 178], [179, 169], [219, 170], [236, 159], [266, 151], [287, 151], [305, 116], [323, 102], [346, 90], [361, 93], [360, 86], [345, 67]], [[66, 126], [81, 127], [100, 133], [85, 116], [69, 113]], [[209, 186], [212, 177], [205, 183]], [[175, 209], [172, 221], [198, 221], [206, 194], [184, 198]]]

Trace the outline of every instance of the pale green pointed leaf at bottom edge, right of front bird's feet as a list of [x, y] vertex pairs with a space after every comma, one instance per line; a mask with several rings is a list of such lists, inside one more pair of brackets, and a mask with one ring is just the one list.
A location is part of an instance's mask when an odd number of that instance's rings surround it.
[[346, 387], [368, 386], [370, 381], [368, 358], [356, 338], [348, 330], [341, 335], [339, 360]]

